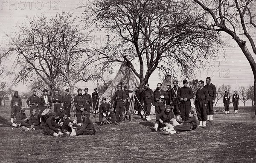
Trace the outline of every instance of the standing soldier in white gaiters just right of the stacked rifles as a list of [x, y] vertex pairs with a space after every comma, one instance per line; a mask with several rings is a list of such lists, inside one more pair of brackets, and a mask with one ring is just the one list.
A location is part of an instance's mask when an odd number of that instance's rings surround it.
[[145, 84], [145, 90], [142, 93], [143, 95], [142, 105], [146, 112], [146, 121], [150, 121], [150, 111], [151, 111], [151, 106], [153, 105], [151, 102], [151, 98], [153, 97], [153, 90], [151, 90], [148, 86], [149, 86], [148, 83]]

